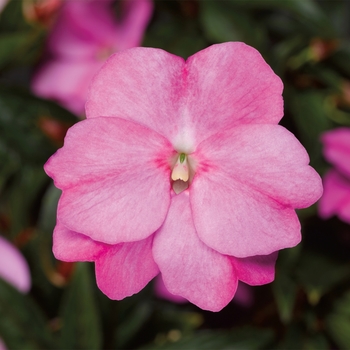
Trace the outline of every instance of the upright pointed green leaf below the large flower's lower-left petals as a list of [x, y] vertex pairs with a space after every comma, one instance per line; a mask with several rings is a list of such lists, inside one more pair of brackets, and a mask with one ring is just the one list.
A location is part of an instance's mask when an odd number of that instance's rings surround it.
[[101, 349], [100, 314], [93, 291], [89, 265], [77, 263], [61, 305], [62, 349]]

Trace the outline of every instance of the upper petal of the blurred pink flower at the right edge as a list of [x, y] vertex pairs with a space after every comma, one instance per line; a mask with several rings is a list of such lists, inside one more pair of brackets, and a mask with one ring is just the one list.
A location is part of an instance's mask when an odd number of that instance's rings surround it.
[[323, 154], [344, 175], [350, 177], [350, 128], [338, 128], [322, 135]]

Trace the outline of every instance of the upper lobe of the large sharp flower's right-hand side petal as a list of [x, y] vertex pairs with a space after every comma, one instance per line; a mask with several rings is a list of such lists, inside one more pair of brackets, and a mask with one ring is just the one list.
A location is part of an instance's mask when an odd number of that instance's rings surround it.
[[322, 180], [308, 165], [304, 147], [279, 125], [241, 125], [218, 133], [193, 157], [210, 177], [222, 172], [225, 182], [232, 179], [293, 208], [308, 207], [322, 194]]

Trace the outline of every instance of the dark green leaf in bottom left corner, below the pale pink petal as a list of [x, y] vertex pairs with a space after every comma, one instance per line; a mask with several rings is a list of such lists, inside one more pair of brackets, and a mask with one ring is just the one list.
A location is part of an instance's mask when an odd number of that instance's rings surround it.
[[48, 322], [30, 297], [0, 279], [0, 336], [9, 349], [53, 349]]

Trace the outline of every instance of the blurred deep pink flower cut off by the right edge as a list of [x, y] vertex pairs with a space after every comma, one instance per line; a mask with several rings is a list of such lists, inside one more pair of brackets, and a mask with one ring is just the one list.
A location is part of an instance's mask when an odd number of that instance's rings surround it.
[[319, 201], [323, 218], [337, 215], [350, 223], [350, 128], [338, 128], [322, 135], [324, 157], [334, 168], [323, 178], [324, 193]]

